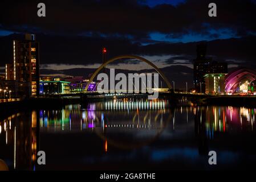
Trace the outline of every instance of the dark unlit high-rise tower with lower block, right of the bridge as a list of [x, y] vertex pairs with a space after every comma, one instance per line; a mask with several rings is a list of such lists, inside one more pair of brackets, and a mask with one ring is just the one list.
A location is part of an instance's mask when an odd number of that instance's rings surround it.
[[206, 44], [197, 46], [197, 58], [194, 60], [194, 87], [197, 92], [205, 93], [205, 75], [209, 73], [227, 73], [227, 64], [212, 61], [205, 57]]

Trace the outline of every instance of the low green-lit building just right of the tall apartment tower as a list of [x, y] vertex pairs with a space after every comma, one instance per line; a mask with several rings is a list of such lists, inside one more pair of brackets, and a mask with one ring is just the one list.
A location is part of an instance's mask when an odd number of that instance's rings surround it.
[[60, 78], [42, 78], [40, 80], [40, 94], [64, 94], [70, 93], [70, 82]]

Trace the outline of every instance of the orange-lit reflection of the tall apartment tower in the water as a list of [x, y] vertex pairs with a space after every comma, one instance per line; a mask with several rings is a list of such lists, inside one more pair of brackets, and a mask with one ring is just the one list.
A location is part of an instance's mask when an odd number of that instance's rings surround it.
[[13, 114], [0, 121], [0, 140], [5, 139], [5, 144], [1, 143], [1, 158], [9, 161], [9, 168], [35, 169], [38, 117], [36, 111], [32, 111]]

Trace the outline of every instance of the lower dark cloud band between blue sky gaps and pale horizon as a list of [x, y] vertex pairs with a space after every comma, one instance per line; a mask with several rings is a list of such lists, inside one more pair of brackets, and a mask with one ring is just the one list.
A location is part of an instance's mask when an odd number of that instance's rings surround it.
[[[11, 62], [11, 40], [22, 39], [23, 35], [14, 34], [0, 38], [0, 67]], [[101, 49], [107, 47], [107, 59], [118, 55], [170, 55], [166, 64], [178, 64], [178, 60], [189, 60], [193, 63], [196, 57], [198, 42], [192, 43], [156, 43], [147, 46], [132, 43], [129, 39], [108, 39], [85, 36], [52, 36], [37, 34], [40, 43], [40, 64], [101, 64]], [[217, 61], [228, 61], [229, 64], [245, 65], [256, 68], [256, 36], [212, 40], [207, 42], [207, 56]], [[117, 62], [127, 63], [127, 62]], [[131, 61], [129, 61], [129, 64]], [[133, 61], [133, 64], [139, 63]], [[184, 63], [182, 63], [184, 64]]]

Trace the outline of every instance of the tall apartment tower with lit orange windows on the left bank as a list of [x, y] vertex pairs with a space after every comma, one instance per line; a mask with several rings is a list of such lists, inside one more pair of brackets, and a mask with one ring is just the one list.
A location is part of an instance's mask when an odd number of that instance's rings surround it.
[[[39, 94], [39, 43], [35, 42], [34, 34], [26, 34], [25, 40], [13, 40], [13, 64], [6, 64], [6, 80], [18, 82], [19, 87], [28, 87], [13, 90], [16, 94], [36, 96]], [[9, 89], [8, 82], [5, 85]], [[19, 88], [18, 88], [19, 89]]]

